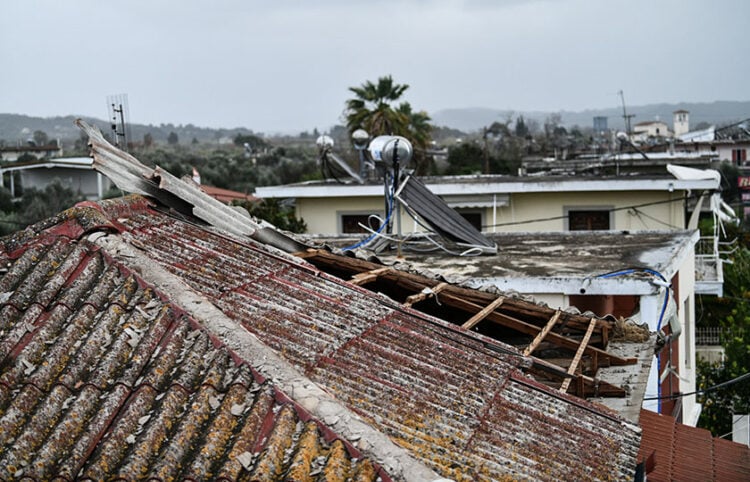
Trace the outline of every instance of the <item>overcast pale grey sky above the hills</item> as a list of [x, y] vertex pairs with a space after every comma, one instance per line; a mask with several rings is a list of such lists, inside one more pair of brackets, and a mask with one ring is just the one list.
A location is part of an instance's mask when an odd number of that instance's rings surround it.
[[0, 112], [294, 132], [391, 74], [417, 110], [750, 100], [747, 0], [4, 0]]

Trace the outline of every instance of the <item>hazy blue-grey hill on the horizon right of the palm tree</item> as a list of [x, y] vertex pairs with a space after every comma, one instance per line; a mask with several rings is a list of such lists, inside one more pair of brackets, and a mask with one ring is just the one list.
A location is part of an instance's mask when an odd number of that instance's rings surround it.
[[[685, 102], [679, 104], [648, 104], [627, 106], [628, 114], [635, 114], [632, 123], [660, 119], [672, 124], [672, 113], [684, 109], [690, 112], [690, 125], [701, 122], [709, 124], [726, 124], [733, 121], [750, 118], [750, 101], [716, 101], [707, 103]], [[550, 114], [558, 113], [562, 116], [562, 123], [566, 127], [578, 125], [592, 127], [596, 116], [607, 117], [610, 129], [624, 129], [622, 107], [607, 109], [588, 109], [580, 112], [571, 111], [514, 111], [486, 108], [444, 109], [431, 113], [435, 125], [452, 127], [464, 132], [471, 132], [488, 126], [493, 122], [504, 122], [509, 116], [515, 120], [519, 115], [524, 119], [533, 119], [539, 124]]]

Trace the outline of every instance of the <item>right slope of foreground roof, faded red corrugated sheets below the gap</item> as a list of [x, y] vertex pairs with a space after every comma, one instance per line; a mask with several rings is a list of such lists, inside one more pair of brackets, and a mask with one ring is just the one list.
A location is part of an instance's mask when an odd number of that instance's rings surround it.
[[119, 236], [441, 475], [633, 477], [639, 429], [533, 382], [511, 347], [143, 203], [102, 206]]

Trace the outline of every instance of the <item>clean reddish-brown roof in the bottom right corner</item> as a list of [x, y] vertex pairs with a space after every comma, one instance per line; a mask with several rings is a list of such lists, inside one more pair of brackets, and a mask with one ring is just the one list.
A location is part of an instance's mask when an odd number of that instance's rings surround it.
[[750, 480], [750, 447], [708, 430], [678, 423], [674, 417], [641, 410], [643, 436], [639, 460], [653, 458], [649, 481]]

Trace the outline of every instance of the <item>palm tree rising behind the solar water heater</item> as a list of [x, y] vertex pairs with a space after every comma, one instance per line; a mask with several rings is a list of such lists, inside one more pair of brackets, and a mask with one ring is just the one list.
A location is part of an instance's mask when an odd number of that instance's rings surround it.
[[407, 84], [394, 83], [390, 75], [380, 77], [377, 84], [368, 80], [360, 87], [350, 87], [355, 97], [346, 101], [346, 127], [350, 135], [364, 129], [373, 137], [406, 137], [414, 146], [417, 174], [424, 174], [429, 167], [425, 150], [432, 131], [430, 116], [424, 111], [414, 112], [408, 102], [393, 106], [408, 88]]

